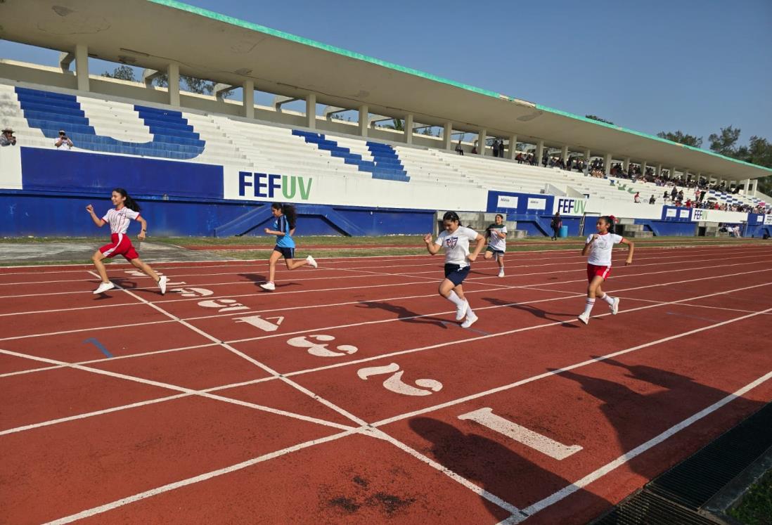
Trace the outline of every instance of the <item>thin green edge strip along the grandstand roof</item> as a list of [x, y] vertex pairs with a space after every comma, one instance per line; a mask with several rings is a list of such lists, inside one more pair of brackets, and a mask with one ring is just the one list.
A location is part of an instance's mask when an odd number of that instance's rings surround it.
[[[158, 5], [165, 5], [170, 8], [180, 9], [181, 11], [190, 12], [195, 15], [201, 15], [209, 19], [215, 19], [220, 22], [225, 22], [227, 24], [237, 25], [245, 29], [251, 29], [252, 31], [266, 33], [266, 35], [276, 36], [277, 38], [280, 38], [280, 39], [286, 39], [292, 42], [298, 42], [300, 44], [310, 46], [310, 47], [315, 47], [317, 49], [323, 49], [324, 51], [328, 51], [328, 52], [334, 52], [338, 55], [347, 56], [352, 59], [362, 60], [364, 62], [369, 62], [377, 66], [386, 67], [388, 69], [394, 69], [396, 71], [400, 71], [401, 73], [408, 73], [409, 75], [420, 76], [428, 80], [434, 80], [435, 82], [458, 87], [458, 88], [461, 88], [462, 90], [472, 91], [473, 93], [479, 93], [481, 95], [485, 95], [486, 97], [493, 97], [501, 100], [507, 100], [510, 102], [516, 102], [516, 99], [514, 97], [503, 95], [502, 93], [496, 93], [495, 91], [490, 91], [490, 90], [483, 90], [480, 87], [470, 86], [469, 84], [455, 82], [455, 80], [445, 79], [442, 76], [436, 76], [430, 73], [424, 73], [423, 71], [419, 71], [418, 69], [412, 69], [410, 67], [400, 66], [399, 64], [394, 64], [391, 62], [387, 62], [385, 60], [376, 59], [372, 56], [363, 55], [358, 52], [353, 52], [340, 47], [330, 46], [322, 42], [317, 42], [316, 40], [305, 39], [302, 36], [296, 36], [288, 32], [279, 31], [277, 29], [271, 29], [269, 27], [266, 27], [265, 25], [246, 22], [245, 20], [236, 19], [228, 15], [222, 15], [221, 13], [209, 11], [208, 9], [205, 9], [205, 8], [198, 8], [198, 7], [195, 7], [194, 5], [188, 5], [185, 2], [178, 2], [178, 0], [147, 0], [147, 2], [152, 2]], [[740, 161], [736, 158], [726, 157], [726, 155], [715, 153], [714, 151], [703, 150], [700, 147], [687, 146], [686, 144], [679, 144], [678, 142], [669, 141], [662, 137], [645, 134], [645, 133], [642, 133], [641, 131], [628, 130], [625, 127], [616, 126], [615, 124], [606, 124], [599, 120], [593, 120], [587, 117], [581, 117], [580, 115], [575, 115], [574, 113], [569, 113], [567, 111], [562, 111], [562, 110], [556, 110], [552, 107], [543, 106], [538, 103], [534, 105], [537, 107], [537, 110], [547, 111], [549, 113], [555, 113], [562, 117], [572, 118], [575, 120], [583, 120], [584, 122], [595, 124], [596, 126], [609, 127], [612, 130], [617, 130], [617, 131], [622, 131], [629, 134], [638, 135], [638, 137], [645, 137], [648, 139], [652, 139], [653, 141], [664, 142], [665, 144], [673, 144], [675, 146], [684, 147], [686, 149], [697, 151], [699, 153], [713, 155], [713, 157], [721, 158], [726, 161], [736, 162], [737, 164], [744, 164], [746, 166], [749, 166], [750, 168], [758, 168], [764, 171], [770, 171], [770, 173], [772, 173], [772, 168], [765, 168], [764, 166], [751, 164], [750, 162], [746, 162], [746, 161]]]

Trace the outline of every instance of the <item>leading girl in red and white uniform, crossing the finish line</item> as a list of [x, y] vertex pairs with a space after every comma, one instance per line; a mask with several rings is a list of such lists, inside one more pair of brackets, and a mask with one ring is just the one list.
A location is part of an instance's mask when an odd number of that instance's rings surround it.
[[102, 260], [106, 257], [120, 255], [124, 256], [128, 262], [141, 269], [144, 273], [147, 273], [148, 276], [151, 276], [158, 283], [161, 295], [164, 295], [166, 293], [166, 277], [159, 276], [150, 266], [140, 260], [137, 250], [134, 249], [134, 246], [131, 246], [131, 239], [126, 235], [129, 223], [133, 220], [139, 221], [142, 229], [140, 234], [137, 235], [137, 239], [144, 241], [145, 233], [147, 233], [147, 222], [140, 216], [140, 206], [137, 202], [134, 202], [134, 199], [127, 194], [124, 188], [115, 188], [111, 200], [115, 208], [107, 210], [103, 218], [97, 217], [92, 205], [86, 206], [86, 211], [91, 214], [91, 220], [93, 220], [97, 227], [101, 228], [103, 225], [110, 224], [110, 239], [112, 240], [110, 244], [106, 244], [94, 252], [91, 257], [94, 266], [97, 266], [97, 272], [99, 272], [102, 278], [102, 283], [93, 293], [96, 295], [115, 288], [115, 285], [110, 283], [110, 279], [107, 279], [107, 269], [104, 268]]

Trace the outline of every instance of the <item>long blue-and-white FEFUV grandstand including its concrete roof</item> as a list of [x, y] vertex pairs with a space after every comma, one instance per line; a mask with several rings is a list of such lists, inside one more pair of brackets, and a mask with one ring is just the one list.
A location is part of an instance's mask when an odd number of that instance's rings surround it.
[[[3, 235], [93, 234], [37, 211], [115, 186], [164, 203], [147, 207], [155, 235], [249, 234], [273, 200], [298, 205], [305, 234], [425, 232], [445, 209], [470, 224], [506, 214], [510, 235], [548, 235], [556, 211], [565, 235], [601, 214], [638, 236], [772, 228], [772, 199], [756, 191], [768, 168], [180, 2], [29, 0], [0, 13], [2, 38], [61, 52], [59, 64], [0, 60], [0, 124], [18, 140], [0, 150]], [[144, 68], [143, 81], [93, 75], [89, 57]], [[168, 88], [154, 86], [164, 74]], [[181, 75], [214, 93], [181, 91]], [[223, 96], [235, 89], [242, 101]], [[256, 90], [273, 105], [253, 103]], [[296, 101], [304, 113], [282, 108]], [[682, 195], [665, 200], [672, 188]]]

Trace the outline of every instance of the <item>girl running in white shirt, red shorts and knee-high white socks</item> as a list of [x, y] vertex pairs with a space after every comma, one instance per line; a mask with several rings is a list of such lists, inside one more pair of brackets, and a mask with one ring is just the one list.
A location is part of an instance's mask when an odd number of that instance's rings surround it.
[[584, 324], [590, 322], [590, 312], [595, 305], [596, 297], [608, 303], [611, 315], [616, 315], [619, 311], [619, 298], [611, 297], [604, 293], [601, 290], [601, 284], [608, 278], [608, 274], [611, 273], [611, 250], [614, 249], [614, 245], [621, 242], [621, 244], [626, 244], [630, 247], [625, 266], [632, 264], [632, 253], [635, 245], [621, 235], [609, 232], [614, 222], [614, 215], [598, 218], [598, 222], [595, 224], [595, 229], [598, 230], [598, 233], [587, 237], [587, 243], [581, 251], [583, 256], [590, 252], [590, 257], [587, 259], [587, 280], [590, 282], [587, 285], [587, 303], [584, 305], [584, 312], [579, 316], [579, 320]]

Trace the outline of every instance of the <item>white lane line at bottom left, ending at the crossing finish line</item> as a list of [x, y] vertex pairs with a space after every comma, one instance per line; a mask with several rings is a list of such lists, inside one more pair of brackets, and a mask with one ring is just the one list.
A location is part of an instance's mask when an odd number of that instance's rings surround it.
[[236, 463], [235, 465], [227, 466], [224, 469], [212, 470], [212, 472], [206, 472], [205, 474], [193, 476], [188, 479], [181, 479], [180, 481], [176, 481], [174, 483], [168, 483], [167, 485], [159, 486], [151, 490], [146, 490], [145, 492], [142, 492], [142, 493], [134, 494], [134, 496], [128, 496], [120, 500], [115, 500], [110, 503], [105, 503], [104, 505], [95, 506], [91, 509], [83, 510], [76, 514], [70, 514], [69, 516], [59, 518], [58, 520], [50, 521], [48, 523], [50, 525], [63, 525], [64, 523], [72, 523], [73, 521], [76, 521], [76, 520], [83, 520], [84, 518], [96, 516], [97, 514], [100, 514], [100, 513], [105, 513], [108, 510], [117, 509], [118, 507], [128, 505], [129, 503], [135, 503], [140, 500], [145, 500], [149, 497], [157, 496], [158, 494], [162, 494], [162, 493], [167, 493], [170, 490], [179, 489], [183, 486], [192, 485], [194, 483], [201, 483], [202, 481], [206, 481], [207, 479], [212, 479], [217, 476], [229, 474], [230, 472], [242, 470], [249, 466], [256, 465], [257, 463], [267, 461], [269, 459], [278, 458], [279, 456], [284, 456], [291, 452], [307, 449], [308, 447], [311, 447], [314, 445], [320, 445], [322, 443], [344, 438], [347, 435], [352, 435], [357, 432], [358, 432], [357, 430], [347, 430], [346, 432], [340, 432], [337, 434], [328, 435], [327, 437], [324, 437], [324, 438], [312, 439], [310, 441], [299, 443], [297, 445], [292, 445], [290, 447], [287, 447], [286, 449], [276, 450], [276, 452], [270, 452], [269, 454], [263, 454], [262, 456], [248, 459], [244, 462]]

